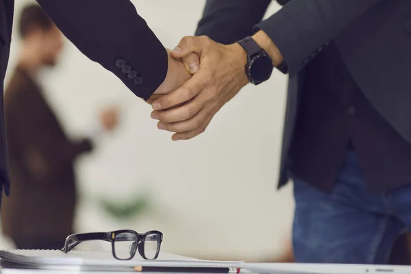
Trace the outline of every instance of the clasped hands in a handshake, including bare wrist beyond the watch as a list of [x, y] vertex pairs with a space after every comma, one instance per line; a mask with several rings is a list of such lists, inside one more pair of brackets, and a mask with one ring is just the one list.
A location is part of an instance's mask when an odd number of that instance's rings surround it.
[[[281, 55], [262, 31], [253, 36], [279, 64]], [[248, 84], [247, 53], [238, 43], [222, 45], [206, 36], [182, 38], [169, 53], [164, 82], [149, 98], [157, 127], [188, 140], [206, 130], [213, 116]]]

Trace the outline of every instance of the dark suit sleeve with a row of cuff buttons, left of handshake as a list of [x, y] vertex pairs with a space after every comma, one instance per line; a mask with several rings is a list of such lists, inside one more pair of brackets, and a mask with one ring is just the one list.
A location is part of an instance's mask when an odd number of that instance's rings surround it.
[[[129, 0], [37, 1], [80, 51], [114, 73], [138, 97], [147, 100], [164, 82], [166, 49]], [[142, 82], [129, 79], [116, 67], [120, 58]]]

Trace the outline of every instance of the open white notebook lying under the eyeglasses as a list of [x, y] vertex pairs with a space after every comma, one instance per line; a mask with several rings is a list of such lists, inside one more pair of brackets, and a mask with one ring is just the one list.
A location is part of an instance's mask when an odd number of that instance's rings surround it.
[[242, 263], [198, 260], [165, 252], [160, 252], [157, 260], [144, 260], [138, 254], [132, 260], [116, 260], [111, 250], [73, 250], [69, 253], [60, 250], [1, 250], [0, 258], [3, 267], [71, 271], [130, 271], [135, 266], [153, 266], [221, 268], [237, 272]]

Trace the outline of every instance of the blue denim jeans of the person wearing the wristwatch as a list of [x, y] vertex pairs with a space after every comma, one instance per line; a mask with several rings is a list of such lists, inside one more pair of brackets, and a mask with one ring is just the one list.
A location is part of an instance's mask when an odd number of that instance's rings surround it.
[[411, 184], [369, 193], [353, 151], [332, 193], [295, 177], [294, 196], [297, 262], [386, 264], [396, 238], [411, 230]]

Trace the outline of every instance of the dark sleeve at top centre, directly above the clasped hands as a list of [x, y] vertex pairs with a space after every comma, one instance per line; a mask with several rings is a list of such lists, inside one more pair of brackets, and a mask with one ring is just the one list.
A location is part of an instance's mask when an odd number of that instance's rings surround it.
[[232, 44], [253, 34], [271, 0], [208, 0], [196, 36], [206, 35], [216, 42]]

